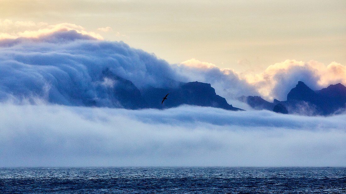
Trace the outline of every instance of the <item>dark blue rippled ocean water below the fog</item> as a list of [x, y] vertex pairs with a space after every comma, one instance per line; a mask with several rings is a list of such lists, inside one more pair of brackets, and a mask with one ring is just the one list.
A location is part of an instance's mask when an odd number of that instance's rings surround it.
[[346, 168], [0, 168], [0, 193], [346, 193]]

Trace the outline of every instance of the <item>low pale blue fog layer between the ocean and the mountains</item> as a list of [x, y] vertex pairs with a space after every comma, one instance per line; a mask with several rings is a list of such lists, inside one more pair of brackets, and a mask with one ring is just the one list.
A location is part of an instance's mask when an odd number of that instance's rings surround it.
[[0, 104], [0, 166], [345, 166], [346, 115]]

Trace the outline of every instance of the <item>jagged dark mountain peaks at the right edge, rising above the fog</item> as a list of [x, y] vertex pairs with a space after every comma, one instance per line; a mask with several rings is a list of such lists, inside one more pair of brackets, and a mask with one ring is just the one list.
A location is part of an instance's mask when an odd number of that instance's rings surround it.
[[[254, 109], [266, 109], [275, 112], [286, 108], [288, 113], [305, 115], [331, 115], [346, 109], [346, 87], [341, 83], [329, 85], [322, 90], [313, 91], [304, 82], [299, 81], [287, 95], [286, 101], [268, 102], [260, 96], [242, 96], [239, 100], [246, 102]], [[280, 108], [281, 107], [281, 108]], [[284, 111], [285, 112], [285, 111]], [[281, 111], [281, 113], [283, 113]]]

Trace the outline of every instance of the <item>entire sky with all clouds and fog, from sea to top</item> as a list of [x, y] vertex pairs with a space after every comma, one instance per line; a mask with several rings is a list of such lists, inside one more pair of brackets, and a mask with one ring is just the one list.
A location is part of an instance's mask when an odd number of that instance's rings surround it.
[[[346, 166], [345, 113], [237, 100], [346, 85], [345, 13], [345, 1], [0, 0], [0, 167]], [[139, 90], [210, 83], [247, 111], [125, 110], [105, 70]]]

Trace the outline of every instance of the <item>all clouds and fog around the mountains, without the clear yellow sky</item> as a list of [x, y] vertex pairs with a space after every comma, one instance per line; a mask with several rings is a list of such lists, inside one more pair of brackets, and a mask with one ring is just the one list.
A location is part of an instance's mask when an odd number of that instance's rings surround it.
[[346, 165], [345, 114], [84, 107], [90, 101], [114, 107], [108, 94], [118, 83], [109, 72], [140, 89], [207, 82], [230, 100], [256, 94], [283, 98], [292, 88], [288, 83], [298, 81], [313, 89], [344, 83], [342, 64], [287, 60], [257, 75], [196, 59], [172, 65], [123, 42], [99, 40], [78, 26], [62, 26], [0, 40], [0, 166]]

